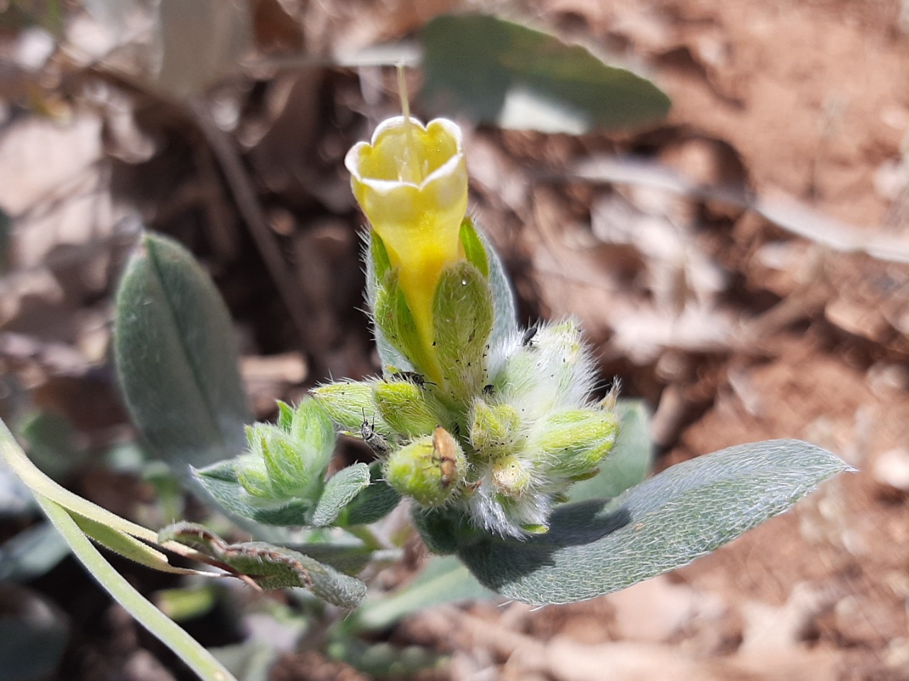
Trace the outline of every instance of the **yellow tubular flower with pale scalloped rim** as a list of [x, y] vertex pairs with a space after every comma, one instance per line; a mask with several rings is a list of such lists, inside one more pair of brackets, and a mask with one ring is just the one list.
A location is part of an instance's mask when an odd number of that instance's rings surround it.
[[[446, 266], [464, 259], [458, 238], [467, 210], [461, 130], [445, 118], [424, 127], [415, 118], [395, 116], [375, 129], [370, 143], [351, 148], [345, 165], [357, 203], [397, 270], [426, 356], [435, 360], [435, 287]], [[440, 383], [441, 369], [434, 364], [422, 368]]]

